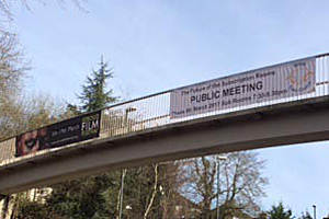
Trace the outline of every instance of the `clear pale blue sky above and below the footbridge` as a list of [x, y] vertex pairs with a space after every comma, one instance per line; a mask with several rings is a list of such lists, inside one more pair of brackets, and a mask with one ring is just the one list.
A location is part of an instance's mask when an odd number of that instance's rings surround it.
[[[38, 2], [38, 1], [35, 1]], [[329, 51], [329, 1], [55, 0], [14, 5], [9, 27], [31, 60], [26, 92], [78, 103], [103, 56], [110, 88], [136, 99]], [[258, 150], [269, 177], [264, 209], [283, 201], [300, 216], [329, 212], [328, 142]]]

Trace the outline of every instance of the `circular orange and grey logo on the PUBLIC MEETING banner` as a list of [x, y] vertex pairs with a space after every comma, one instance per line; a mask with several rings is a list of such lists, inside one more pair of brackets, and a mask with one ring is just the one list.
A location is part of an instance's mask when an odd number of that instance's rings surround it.
[[293, 92], [305, 92], [313, 87], [314, 71], [305, 66], [295, 68], [286, 78], [288, 89]]

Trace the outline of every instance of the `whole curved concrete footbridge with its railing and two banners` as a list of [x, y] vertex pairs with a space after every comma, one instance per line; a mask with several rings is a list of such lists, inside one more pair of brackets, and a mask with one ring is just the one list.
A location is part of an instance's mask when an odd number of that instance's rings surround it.
[[155, 162], [329, 139], [329, 55], [112, 105], [0, 142], [0, 194]]

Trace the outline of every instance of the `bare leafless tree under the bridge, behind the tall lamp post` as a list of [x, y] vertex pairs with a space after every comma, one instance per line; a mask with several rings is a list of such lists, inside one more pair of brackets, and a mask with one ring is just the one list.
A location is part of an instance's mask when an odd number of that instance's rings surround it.
[[219, 189], [217, 189], [216, 155], [201, 157], [184, 161], [182, 168], [189, 170], [188, 183], [182, 187], [182, 194], [196, 200], [202, 211], [202, 218], [214, 215], [217, 194], [219, 193], [220, 218], [237, 212], [259, 211], [260, 197], [265, 195], [264, 186], [268, 178], [262, 175], [264, 161], [257, 152], [242, 151], [228, 153], [222, 161]]

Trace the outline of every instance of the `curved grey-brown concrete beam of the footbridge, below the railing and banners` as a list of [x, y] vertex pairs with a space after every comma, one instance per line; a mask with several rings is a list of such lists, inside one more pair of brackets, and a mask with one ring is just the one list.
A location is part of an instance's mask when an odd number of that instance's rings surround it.
[[0, 194], [12, 194], [120, 168], [328, 140], [328, 97], [318, 97], [77, 143], [1, 166]]

